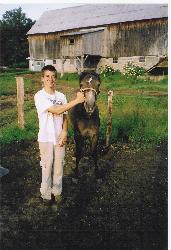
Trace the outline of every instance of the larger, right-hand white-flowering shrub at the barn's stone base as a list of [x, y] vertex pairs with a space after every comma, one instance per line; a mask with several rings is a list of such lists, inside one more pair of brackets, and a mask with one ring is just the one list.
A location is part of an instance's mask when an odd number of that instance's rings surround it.
[[138, 76], [142, 76], [145, 73], [144, 68], [134, 65], [132, 62], [124, 67], [125, 72], [123, 73], [127, 78], [137, 79]]

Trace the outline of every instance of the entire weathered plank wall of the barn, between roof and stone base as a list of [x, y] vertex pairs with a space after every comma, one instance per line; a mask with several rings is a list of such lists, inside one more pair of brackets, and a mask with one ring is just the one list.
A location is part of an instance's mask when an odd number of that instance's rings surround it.
[[110, 24], [104, 31], [74, 35], [69, 44], [69, 32], [31, 35], [28, 37], [30, 57], [36, 59], [73, 58], [84, 54], [106, 58], [167, 55], [167, 18]]

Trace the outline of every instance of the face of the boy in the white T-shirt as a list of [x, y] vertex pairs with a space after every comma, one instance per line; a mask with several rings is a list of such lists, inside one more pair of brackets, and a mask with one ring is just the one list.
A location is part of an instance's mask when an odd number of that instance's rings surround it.
[[45, 88], [55, 88], [56, 84], [56, 72], [45, 70], [42, 76], [42, 82]]

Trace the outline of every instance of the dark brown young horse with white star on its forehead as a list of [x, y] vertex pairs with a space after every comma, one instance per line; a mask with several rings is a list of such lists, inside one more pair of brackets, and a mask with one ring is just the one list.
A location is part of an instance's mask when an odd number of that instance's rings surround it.
[[83, 72], [80, 75], [80, 91], [84, 92], [85, 102], [76, 105], [70, 111], [70, 119], [74, 129], [74, 140], [76, 146], [76, 176], [78, 177], [78, 165], [83, 156], [83, 146], [88, 138], [90, 141], [90, 154], [94, 159], [95, 174], [97, 167], [97, 144], [99, 137], [99, 110], [96, 99], [99, 94], [100, 77], [95, 72]]

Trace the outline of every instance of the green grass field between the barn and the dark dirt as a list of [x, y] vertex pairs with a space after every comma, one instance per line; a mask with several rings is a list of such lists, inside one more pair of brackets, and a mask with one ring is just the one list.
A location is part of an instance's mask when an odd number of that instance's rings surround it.
[[[19, 72], [17, 72], [18, 74]], [[1, 111], [1, 137], [3, 144], [37, 138], [38, 119], [34, 106], [33, 95], [41, 88], [40, 73], [24, 72], [25, 83], [25, 129], [21, 130], [17, 125], [16, 109], [16, 72], [1, 73], [2, 104], [13, 98], [13, 106], [5, 107]], [[59, 78], [59, 77], [58, 77]], [[113, 97], [113, 142], [126, 142], [133, 146], [153, 146], [167, 140], [167, 96], [149, 96], [134, 92], [135, 90], [159, 91], [167, 93], [167, 77], [158, 82], [150, 79], [139, 79], [137, 82], [126, 79], [121, 74], [108, 78], [102, 77], [101, 94], [98, 97], [100, 110], [100, 138], [105, 138], [107, 124], [107, 91], [114, 90]], [[58, 80], [62, 91], [70, 96], [70, 89], [78, 88], [78, 75], [65, 74]], [[66, 88], [67, 87], [67, 88]], [[123, 92], [119, 92], [124, 90]], [[132, 91], [131, 95], [128, 91]], [[115, 91], [117, 94], [115, 94]], [[7, 97], [9, 99], [7, 99]], [[15, 103], [15, 104], [14, 104]], [[72, 128], [69, 127], [69, 138], [73, 136]]]

